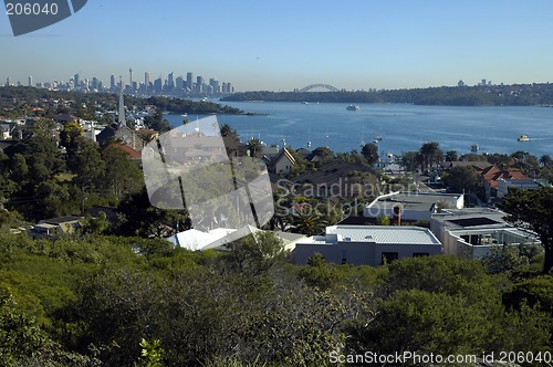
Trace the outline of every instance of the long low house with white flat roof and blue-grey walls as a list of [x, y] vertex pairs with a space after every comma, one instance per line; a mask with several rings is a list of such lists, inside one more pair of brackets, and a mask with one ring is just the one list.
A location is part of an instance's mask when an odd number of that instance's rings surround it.
[[378, 266], [394, 260], [441, 254], [441, 243], [429, 229], [389, 226], [332, 226], [324, 235], [298, 241], [295, 264], [304, 265], [315, 253], [336, 264]]

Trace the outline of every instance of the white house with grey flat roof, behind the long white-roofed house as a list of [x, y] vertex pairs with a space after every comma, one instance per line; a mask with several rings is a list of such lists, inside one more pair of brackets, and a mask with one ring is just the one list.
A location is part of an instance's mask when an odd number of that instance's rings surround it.
[[363, 209], [363, 216], [367, 218], [386, 216], [393, 219], [400, 214], [401, 221], [415, 222], [429, 220], [434, 213], [445, 208], [463, 207], [462, 193], [396, 191], [377, 197]]

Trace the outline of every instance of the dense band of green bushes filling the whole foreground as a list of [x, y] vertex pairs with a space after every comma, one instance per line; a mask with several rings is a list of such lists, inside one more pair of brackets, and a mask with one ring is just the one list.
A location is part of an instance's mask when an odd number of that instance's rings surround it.
[[511, 286], [450, 256], [380, 268], [284, 256], [272, 233], [222, 252], [1, 234], [0, 289], [10, 292], [0, 296], [0, 365], [324, 366], [332, 350], [551, 348], [547, 276]]

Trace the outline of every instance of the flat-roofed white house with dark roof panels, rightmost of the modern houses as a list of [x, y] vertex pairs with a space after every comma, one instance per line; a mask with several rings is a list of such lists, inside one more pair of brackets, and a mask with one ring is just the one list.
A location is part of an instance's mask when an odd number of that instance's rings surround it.
[[445, 254], [465, 259], [481, 259], [497, 247], [540, 244], [534, 233], [507, 223], [505, 216], [488, 208], [448, 209], [432, 216], [430, 229]]

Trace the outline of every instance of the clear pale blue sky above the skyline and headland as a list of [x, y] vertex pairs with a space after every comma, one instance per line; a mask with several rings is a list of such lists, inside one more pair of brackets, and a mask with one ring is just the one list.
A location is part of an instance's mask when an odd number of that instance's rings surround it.
[[88, 0], [14, 38], [0, 14], [0, 83], [192, 72], [238, 91], [553, 81], [550, 0]]

